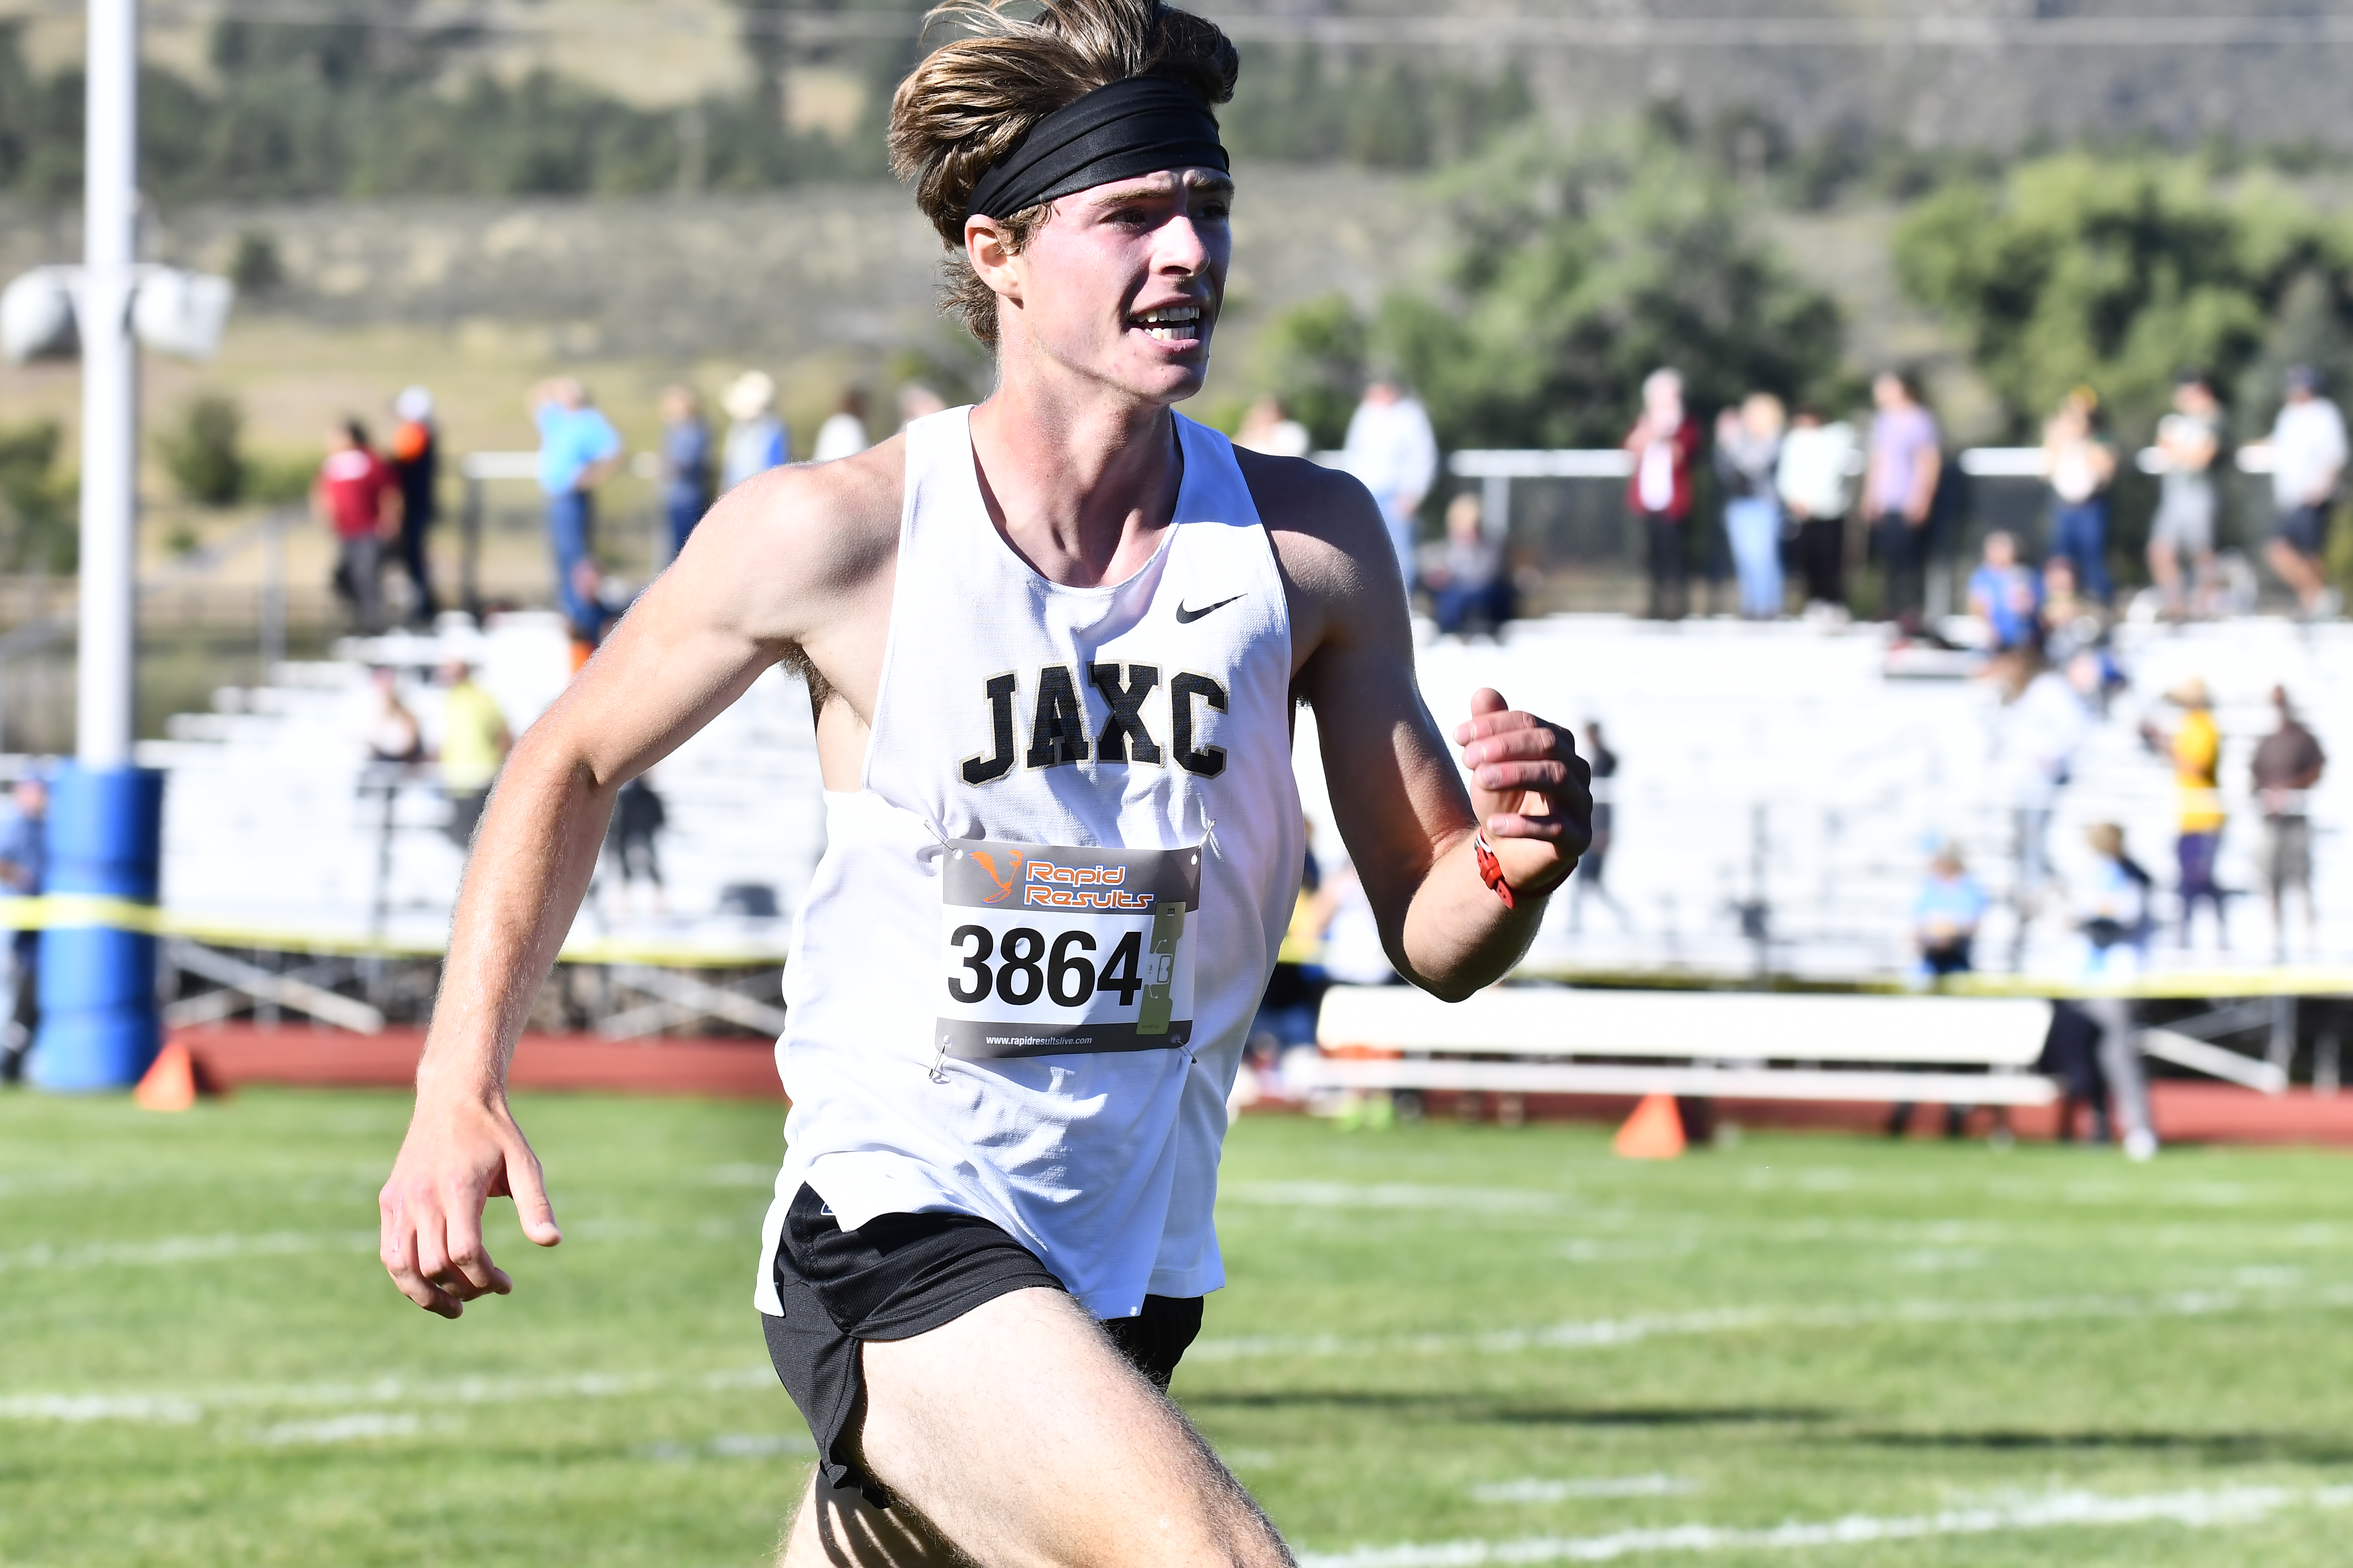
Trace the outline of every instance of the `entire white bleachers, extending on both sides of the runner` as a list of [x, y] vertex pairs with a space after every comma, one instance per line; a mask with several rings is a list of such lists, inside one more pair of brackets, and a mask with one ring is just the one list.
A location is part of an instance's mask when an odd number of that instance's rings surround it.
[[[400, 670], [402, 696], [428, 741], [440, 729], [431, 670], [461, 654], [522, 729], [567, 679], [565, 632], [548, 614], [494, 616], [485, 630], [452, 618], [431, 637], [346, 639], [336, 658], [278, 663], [266, 686], [226, 689], [212, 712], [179, 715], [141, 759], [172, 773], [165, 830], [165, 910], [226, 933], [301, 933], [306, 945], [355, 943], [433, 952], [447, 931], [461, 858], [442, 835], [447, 804], [431, 771], [391, 785], [386, 839], [379, 773], [365, 762], [369, 665]], [[2257, 823], [2247, 755], [2268, 729], [2266, 693], [2285, 682], [2339, 757], [2313, 795], [2318, 952], [2353, 957], [2353, 907], [2341, 886], [2344, 823], [2353, 818], [2353, 625], [2299, 628], [2235, 621], [2191, 628], [2125, 625], [2129, 675], [2082, 748], [2061, 795], [2052, 851], [2061, 875], [2082, 860], [2082, 827], [2120, 820], [2134, 853], [2169, 882], [2172, 778], [2137, 724], [2158, 693], [2202, 675], [2226, 733], [2224, 795], [2233, 809], [2221, 872], [2254, 889]], [[1617, 846], [1607, 884], [1624, 907], [1555, 898], [1527, 973], [1555, 978], [1758, 976], [1871, 985], [1911, 961], [1908, 910], [1929, 846], [1958, 839], [1995, 896], [1981, 964], [2017, 950], [2031, 976], [2064, 973], [2057, 919], [2012, 943], [2012, 818], [1991, 766], [1998, 698], [1986, 682], [1901, 677], [1887, 632], [1873, 625], [1553, 616], [1504, 630], [1499, 642], [1428, 639], [1421, 682], [1442, 724], [1475, 686], [1584, 724], [1600, 717], [1624, 766], [1614, 783]], [[1315, 844], [1329, 832], [1313, 715], [1301, 715], [1299, 776]], [[668, 907], [642, 893], [621, 907], [600, 882], [581, 912], [576, 957], [616, 961], [776, 961], [824, 846], [824, 804], [805, 691], [765, 675], [732, 710], [666, 759], [654, 783], [668, 806], [661, 839]], [[381, 877], [379, 877], [381, 867]], [[776, 917], [746, 914], [727, 889], [774, 891]], [[1572, 924], [1581, 929], [1572, 931]], [[2158, 969], [2212, 971], [2271, 959], [2261, 898], [2233, 907], [2233, 954], [2160, 945]], [[205, 938], [214, 940], [214, 938]], [[228, 938], [219, 938], [228, 945]], [[247, 945], [266, 945], [254, 936]], [[2301, 945], [2301, 943], [2299, 943]]]

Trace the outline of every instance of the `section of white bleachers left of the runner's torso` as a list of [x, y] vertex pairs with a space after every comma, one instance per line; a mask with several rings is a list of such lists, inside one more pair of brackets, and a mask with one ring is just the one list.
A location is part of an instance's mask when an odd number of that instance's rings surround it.
[[[452, 656], [520, 733], [562, 691], [569, 644], [544, 611], [452, 616], [435, 635], [344, 639], [332, 661], [285, 661], [266, 686], [214, 693], [212, 712], [174, 715], [139, 759], [169, 771], [162, 903], [179, 922], [224, 933], [301, 933], [308, 943], [440, 950], [464, 856], [442, 832], [449, 806], [431, 766], [367, 762], [367, 670], [400, 672], [400, 696], [426, 745], [440, 738]], [[600, 872], [572, 947], [614, 947], [678, 961], [774, 959], [824, 849], [824, 802], [802, 686], [769, 670], [649, 776], [661, 835], [666, 912], [640, 889], [624, 910]], [[386, 802], [386, 795], [391, 799]], [[391, 832], [386, 835], [386, 804]], [[736, 889], [722, 910], [722, 896]], [[767, 889], [774, 914], [746, 912]], [[259, 940], [254, 945], [261, 945]]]

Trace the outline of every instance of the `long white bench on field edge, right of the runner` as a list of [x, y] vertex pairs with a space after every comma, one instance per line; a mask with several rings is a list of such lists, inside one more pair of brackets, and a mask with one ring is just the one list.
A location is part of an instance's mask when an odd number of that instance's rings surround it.
[[2033, 1070], [2049, 1018], [2033, 997], [1508, 985], [1447, 1004], [1405, 985], [1337, 985], [1318, 1044], [1402, 1056], [1301, 1065], [1306, 1088], [2049, 1105], [2059, 1088]]

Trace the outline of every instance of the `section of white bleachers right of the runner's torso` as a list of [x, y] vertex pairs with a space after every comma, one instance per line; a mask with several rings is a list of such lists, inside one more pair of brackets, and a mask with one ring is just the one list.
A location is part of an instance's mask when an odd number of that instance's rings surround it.
[[[2217, 693], [2224, 729], [2221, 877], [2235, 898], [2233, 950], [2172, 950], [2158, 966], [2217, 969], [2273, 957], [2254, 856], [2259, 823], [2247, 759], [2271, 729], [2268, 691], [2285, 684], [2322, 745], [2344, 762], [2313, 792], [2320, 945], [2292, 957], [2353, 957], [2353, 907], [2341, 886], [2344, 825], [2353, 818], [2353, 625], [2233, 621], [2188, 628], [2122, 625], [2118, 691], [2078, 755], [2049, 830], [2061, 875], [2087, 858], [2082, 830], [2115, 820], [2132, 853], [2172, 882], [2174, 790], [2169, 769], [2139, 741], [2139, 722], [2169, 722], [2160, 693], [2200, 675]], [[1791, 976], [1821, 983], [1892, 980], [1911, 964], [1911, 905], [1929, 849], [1955, 839], [1998, 905], [1981, 966], [2014, 952], [2007, 907], [2014, 823], [1993, 769], [1998, 696], [1962, 679], [1967, 661], [1939, 661], [1937, 677], [1899, 677], [1887, 630], [1798, 621], [1685, 621], [1553, 616], [1506, 628], [1501, 642], [1433, 642], [1421, 649], [1421, 686], [1440, 724], [1468, 710], [1471, 691], [1497, 686], [1520, 708], [1569, 724], [1602, 719], [1621, 757], [1614, 780], [1617, 844], [1607, 886], [1621, 922], [1598, 900], [1553, 900], [1529, 971], [1558, 976]], [[1315, 846], [1329, 832], [1311, 715], [1301, 715], [1301, 792]], [[2169, 912], [2169, 900], [2160, 900]], [[1572, 933], [1572, 922], [1581, 926]], [[2073, 957], [2057, 917], [2028, 926], [2019, 969], [2061, 973]]]

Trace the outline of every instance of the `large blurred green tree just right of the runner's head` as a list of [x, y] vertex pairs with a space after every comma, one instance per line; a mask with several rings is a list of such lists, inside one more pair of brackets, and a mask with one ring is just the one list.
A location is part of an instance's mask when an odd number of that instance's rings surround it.
[[1520, 132], [1445, 176], [1433, 205], [1461, 242], [1431, 287], [1369, 317], [1322, 301], [1268, 336], [1268, 378], [1318, 440], [1337, 437], [1329, 411], [1369, 367], [1402, 374], [1449, 447], [1614, 447], [1661, 364], [1701, 411], [1849, 390], [1838, 306], [1671, 134]]

